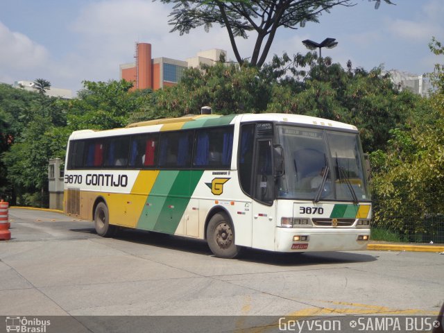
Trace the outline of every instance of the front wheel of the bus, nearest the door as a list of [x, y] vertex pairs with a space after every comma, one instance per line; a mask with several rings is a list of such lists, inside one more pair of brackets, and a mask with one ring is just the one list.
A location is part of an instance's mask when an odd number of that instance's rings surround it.
[[207, 225], [207, 243], [216, 257], [231, 259], [239, 255], [234, 244], [234, 227], [226, 214], [217, 213]]

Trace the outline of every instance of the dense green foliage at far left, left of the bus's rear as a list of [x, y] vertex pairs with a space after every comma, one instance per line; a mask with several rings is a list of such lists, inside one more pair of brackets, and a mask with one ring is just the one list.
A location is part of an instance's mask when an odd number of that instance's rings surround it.
[[[37, 81], [37, 80], [36, 80]], [[41, 79], [42, 89], [51, 84]], [[39, 81], [40, 82], [40, 81]], [[0, 85], [1, 114], [1, 198], [15, 203], [16, 197], [24, 203], [24, 197], [38, 197], [45, 205], [48, 160], [66, 147], [55, 148], [51, 132], [66, 126], [65, 104], [60, 99], [49, 98], [42, 93]], [[65, 155], [65, 153], [63, 153]]]

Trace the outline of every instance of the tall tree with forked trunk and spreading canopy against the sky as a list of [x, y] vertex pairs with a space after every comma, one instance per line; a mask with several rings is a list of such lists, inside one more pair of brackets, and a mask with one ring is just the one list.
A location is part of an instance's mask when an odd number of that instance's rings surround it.
[[[169, 20], [173, 26], [171, 32], [179, 31], [183, 35], [198, 26], [208, 31], [212, 24], [225, 27], [239, 65], [244, 64], [244, 58], [241, 58], [235, 37], [247, 38], [249, 32], [255, 31], [257, 37], [249, 63], [257, 67], [264, 64], [278, 28], [302, 28], [307, 22], [319, 22], [319, 16], [335, 6], [355, 6], [350, 0], [161, 1], [174, 5]], [[375, 2], [375, 8], [382, 1], [393, 4], [391, 0], [370, 1]]]

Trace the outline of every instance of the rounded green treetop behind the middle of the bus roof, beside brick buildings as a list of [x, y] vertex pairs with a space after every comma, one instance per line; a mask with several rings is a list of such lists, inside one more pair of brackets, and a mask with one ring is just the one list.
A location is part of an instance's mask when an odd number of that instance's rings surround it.
[[187, 69], [180, 84], [155, 92], [155, 103], [147, 118], [198, 114], [204, 105], [217, 114], [264, 112], [271, 87], [255, 67], [237, 67], [218, 62], [212, 67]]

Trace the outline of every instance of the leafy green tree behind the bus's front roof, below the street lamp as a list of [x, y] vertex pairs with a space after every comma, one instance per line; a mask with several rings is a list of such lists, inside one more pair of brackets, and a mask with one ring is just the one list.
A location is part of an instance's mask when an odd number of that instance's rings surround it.
[[420, 96], [394, 89], [380, 68], [352, 69], [349, 62], [344, 69], [330, 58], [318, 59], [316, 53], [275, 57], [263, 73], [279, 83], [272, 85], [269, 111], [352, 123], [361, 131], [364, 151], [384, 150], [389, 130], [404, 128], [421, 101]]

